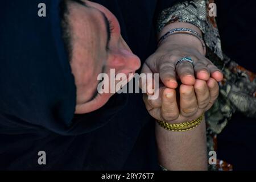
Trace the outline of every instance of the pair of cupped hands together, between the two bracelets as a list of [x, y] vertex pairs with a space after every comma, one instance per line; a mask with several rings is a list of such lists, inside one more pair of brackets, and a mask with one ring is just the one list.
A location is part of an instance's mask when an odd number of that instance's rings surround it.
[[[194, 65], [185, 61], [176, 65], [181, 57], [191, 57]], [[170, 123], [192, 121], [210, 109], [223, 77], [199, 48], [184, 44], [179, 36], [162, 43], [144, 63], [142, 73], [159, 73], [159, 97], [148, 100], [144, 94], [143, 101], [152, 117]]]

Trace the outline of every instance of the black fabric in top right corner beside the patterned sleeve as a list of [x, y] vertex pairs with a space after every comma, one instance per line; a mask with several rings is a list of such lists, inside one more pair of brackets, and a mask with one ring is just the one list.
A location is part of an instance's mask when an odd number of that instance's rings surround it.
[[256, 2], [217, 0], [216, 3], [222, 51], [242, 67], [256, 73]]

